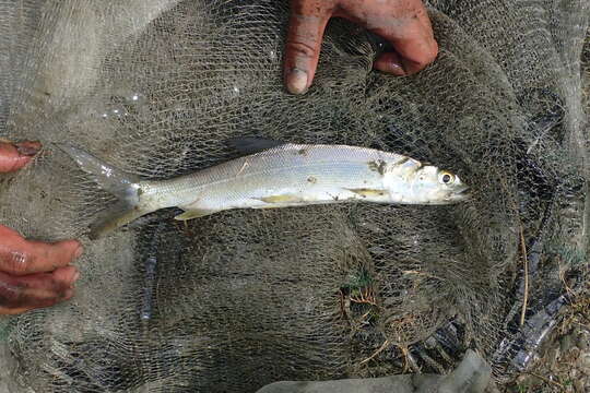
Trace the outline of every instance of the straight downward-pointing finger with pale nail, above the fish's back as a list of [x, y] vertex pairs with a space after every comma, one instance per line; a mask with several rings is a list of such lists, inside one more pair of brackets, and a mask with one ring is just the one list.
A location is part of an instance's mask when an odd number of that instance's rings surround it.
[[323, 32], [333, 10], [330, 3], [320, 1], [316, 7], [309, 7], [309, 1], [292, 1], [284, 61], [285, 84], [290, 93], [303, 94], [311, 85]]

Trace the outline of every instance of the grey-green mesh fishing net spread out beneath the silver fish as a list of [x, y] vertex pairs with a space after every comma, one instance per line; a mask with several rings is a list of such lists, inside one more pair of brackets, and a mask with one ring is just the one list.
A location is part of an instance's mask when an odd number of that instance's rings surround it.
[[[387, 46], [334, 19], [293, 96], [287, 1], [0, 1], [0, 136], [45, 146], [2, 177], [0, 222], [85, 246], [71, 301], [10, 320], [10, 390], [255, 392], [445, 373], [467, 348], [499, 382], [528, 367], [587, 277], [589, 5], [428, 5], [440, 53], [426, 70], [373, 71]], [[186, 225], [168, 209], [91, 241], [114, 198], [55, 147], [164, 179], [236, 157], [236, 136], [402, 153], [474, 195]]]

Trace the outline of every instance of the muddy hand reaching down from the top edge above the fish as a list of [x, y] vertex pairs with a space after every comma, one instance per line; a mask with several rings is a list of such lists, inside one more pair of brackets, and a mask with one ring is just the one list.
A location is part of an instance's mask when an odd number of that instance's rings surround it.
[[421, 0], [291, 0], [285, 48], [287, 90], [303, 94], [318, 66], [323, 31], [332, 16], [345, 17], [387, 39], [396, 51], [382, 53], [374, 68], [413, 74], [434, 61], [438, 45]]

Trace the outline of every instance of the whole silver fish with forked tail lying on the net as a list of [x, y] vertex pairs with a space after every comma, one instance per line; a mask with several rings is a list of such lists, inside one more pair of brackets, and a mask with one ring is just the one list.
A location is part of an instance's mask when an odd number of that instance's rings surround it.
[[92, 238], [174, 206], [185, 211], [175, 218], [187, 221], [231, 209], [351, 201], [449, 204], [469, 198], [469, 187], [457, 175], [400, 154], [257, 139], [234, 142], [253, 154], [162, 181], [139, 179], [72, 146], [60, 148], [120, 200], [107, 218], [91, 228]]

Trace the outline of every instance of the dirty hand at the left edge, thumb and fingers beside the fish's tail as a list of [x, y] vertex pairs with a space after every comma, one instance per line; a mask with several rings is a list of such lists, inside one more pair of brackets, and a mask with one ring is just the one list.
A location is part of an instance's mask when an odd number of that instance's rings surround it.
[[[22, 168], [39, 150], [37, 142], [0, 142], [0, 172]], [[69, 264], [81, 253], [75, 240], [25, 240], [0, 225], [0, 314], [22, 313], [71, 298], [79, 273]]]

